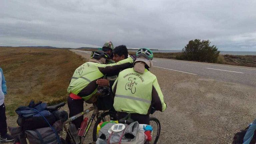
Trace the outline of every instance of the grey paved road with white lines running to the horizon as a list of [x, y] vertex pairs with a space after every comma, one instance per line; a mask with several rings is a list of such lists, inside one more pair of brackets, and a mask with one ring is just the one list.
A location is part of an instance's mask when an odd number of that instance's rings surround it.
[[[90, 51], [75, 50], [90, 54]], [[209, 64], [172, 59], [153, 59], [154, 67], [182, 73], [205, 76], [227, 82], [256, 86], [256, 69], [232, 65]]]

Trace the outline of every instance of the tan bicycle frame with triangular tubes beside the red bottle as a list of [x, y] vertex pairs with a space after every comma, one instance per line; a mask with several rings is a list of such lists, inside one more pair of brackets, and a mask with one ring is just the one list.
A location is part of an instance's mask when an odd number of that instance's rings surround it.
[[79, 118], [79, 117], [81, 117], [81, 116], [83, 116], [83, 115], [85, 115], [85, 114], [87, 114], [87, 113], [89, 113], [91, 111], [93, 111], [93, 114], [92, 114], [92, 116], [91, 116], [91, 118], [90, 118], [90, 120], [89, 120], [89, 122], [88, 122], [88, 124], [86, 126], [84, 135], [81, 137], [81, 143], [83, 143], [83, 141], [85, 140], [85, 137], [86, 137], [86, 135], [87, 135], [91, 125], [92, 125], [92, 122], [93, 122], [95, 116], [99, 114], [99, 111], [98, 111], [98, 108], [96, 107], [96, 105], [93, 105], [89, 109], [87, 109], [87, 110], [85, 110], [85, 111], [83, 111], [83, 112], [81, 112], [81, 113], [79, 113], [77, 115], [74, 115], [74, 116], [70, 117], [67, 121], [65, 121], [63, 123], [63, 128], [66, 131], [67, 136], [69, 137], [71, 142], [74, 142], [74, 139], [73, 139], [71, 133], [69, 132], [68, 127], [66, 126], [66, 124], [69, 124], [70, 122], [74, 121], [75, 119], [77, 119], [77, 118]]

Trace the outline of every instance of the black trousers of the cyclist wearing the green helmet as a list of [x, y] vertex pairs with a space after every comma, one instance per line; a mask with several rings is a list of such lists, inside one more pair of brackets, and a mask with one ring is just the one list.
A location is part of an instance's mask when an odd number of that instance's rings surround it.
[[[117, 112], [116, 117], [119, 120], [119, 119], [124, 118], [126, 115], [128, 115], [128, 113]], [[139, 124], [149, 125], [149, 115], [142, 115], [142, 114], [133, 113], [133, 114], [131, 114], [131, 119], [133, 119], [134, 121], [138, 121]]]

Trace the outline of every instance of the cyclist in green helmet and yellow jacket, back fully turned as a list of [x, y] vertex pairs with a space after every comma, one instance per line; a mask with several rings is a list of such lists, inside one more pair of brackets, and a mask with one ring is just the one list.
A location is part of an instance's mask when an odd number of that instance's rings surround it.
[[131, 113], [133, 120], [149, 124], [152, 107], [163, 112], [167, 106], [156, 76], [149, 72], [153, 66], [152, 51], [139, 49], [136, 57], [134, 67], [121, 71], [112, 87], [115, 94], [114, 108], [118, 120]]

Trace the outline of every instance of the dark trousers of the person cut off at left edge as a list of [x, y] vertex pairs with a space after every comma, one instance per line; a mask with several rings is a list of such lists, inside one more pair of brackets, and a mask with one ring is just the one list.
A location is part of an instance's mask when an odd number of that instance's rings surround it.
[[0, 135], [5, 135], [7, 133], [7, 123], [5, 115], [5, 106], [2, 104], [0, 106]]

